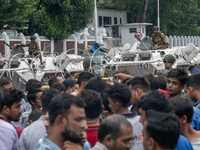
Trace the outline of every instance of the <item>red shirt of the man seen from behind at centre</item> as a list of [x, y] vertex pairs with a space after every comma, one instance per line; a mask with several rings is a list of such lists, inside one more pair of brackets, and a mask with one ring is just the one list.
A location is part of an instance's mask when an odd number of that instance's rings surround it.
[[91, 147], [93, 147], [98, 141], [98, 129], [99, 129], [99, 125], [88, 126], [87, 140], [90, 143]]

